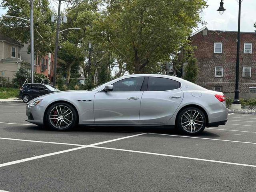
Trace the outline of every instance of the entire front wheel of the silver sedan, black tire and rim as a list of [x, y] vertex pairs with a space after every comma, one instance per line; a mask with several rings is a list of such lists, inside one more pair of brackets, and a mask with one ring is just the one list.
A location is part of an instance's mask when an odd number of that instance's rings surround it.
[[[69, 115], [65, 116], [67, 114]], [[72, 118], [70, 118], [71, 117], [70, 114], [72, 115]], [[57, 118], [57, 119], [50, 119], [50, 115], [52, 118]], [[77, 116], [78, 114], [76, 113], [76, 110], [72, 105], [68, 103], [59, 102], [59, 103], [53, 104], [48, 108], [44, 122], [46, 126], [50, 127], [53, 130], [66, 131], [74, 128], [74, 126], [77, 125], [77, 120], [78, 120]], [[60, 123], [58, 120], [60, 121]]]

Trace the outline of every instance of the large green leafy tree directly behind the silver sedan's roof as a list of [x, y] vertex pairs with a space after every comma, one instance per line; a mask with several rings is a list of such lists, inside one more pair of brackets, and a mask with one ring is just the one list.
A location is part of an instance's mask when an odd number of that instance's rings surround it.
[[106, 0], [94, 35], [122, 57], [130, 73], [150, 72], [176, 54], [202, 22], [205, 0]]

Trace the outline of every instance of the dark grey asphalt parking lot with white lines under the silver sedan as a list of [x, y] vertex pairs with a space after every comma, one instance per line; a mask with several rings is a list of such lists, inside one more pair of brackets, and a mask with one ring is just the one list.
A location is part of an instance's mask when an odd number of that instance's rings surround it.
[[0, 103], [0, 192], [256, 191], [256, 115], [184, 136], [161, 127], [29, 124]]

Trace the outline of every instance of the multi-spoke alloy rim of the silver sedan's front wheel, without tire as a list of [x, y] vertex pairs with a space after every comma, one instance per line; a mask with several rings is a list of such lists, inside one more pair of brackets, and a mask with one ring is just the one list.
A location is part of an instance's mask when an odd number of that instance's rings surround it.
[[49, 120], [55, 128], [64, 129], [72, 123], [73, 113], [67, 106], [58, 105], [51, 110]]

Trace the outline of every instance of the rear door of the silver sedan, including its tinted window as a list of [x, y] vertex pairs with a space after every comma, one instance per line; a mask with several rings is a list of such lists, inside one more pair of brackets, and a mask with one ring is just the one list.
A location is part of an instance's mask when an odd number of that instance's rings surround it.
[[140, 123], [170, 120], [183, 99], [180, 82], [162, 77], [148, 77], [148, 87], [140, 104]]

